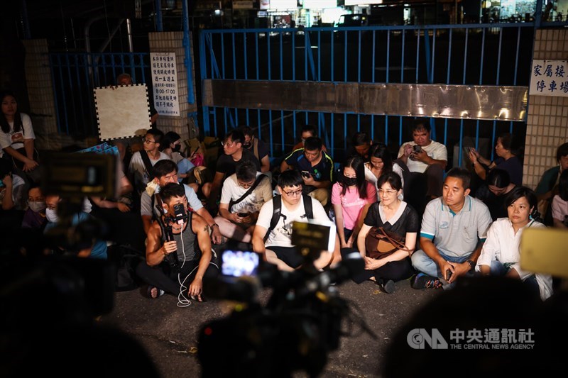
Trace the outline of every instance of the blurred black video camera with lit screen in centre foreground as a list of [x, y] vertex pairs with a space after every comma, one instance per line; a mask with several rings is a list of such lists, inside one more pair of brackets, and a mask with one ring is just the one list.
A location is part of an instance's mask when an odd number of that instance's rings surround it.
[[[350, 315], [349, 304], [334, 284], [364, 268], [361, 255], [355, 252], [333, 269], [315, 269], [313, 262], [328, 252], [314, 246], [328, 248], [331, 235], [335, 240], [329, 226], [327, 231], [324, 228], [293, 223], [293, 243], [304, 257], [304, 264], [294, 272], [279, 271], [256, 252], [222, 252], [222, 274], [204, 282], [204, 294], [238, 304], [229, 316], [200, 330], [197, 355], [204, 377], [235, 371], [249, 377], [286, 377], [296, 370], [310, 376], [322, 372], [327, 352], [339, 348], [342, 320]], [[272, 289], [266, 305], [258, 300], [261, 288]], [[362, 321], [361, 328], [373, 335]]]

